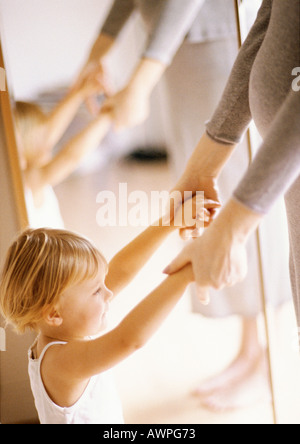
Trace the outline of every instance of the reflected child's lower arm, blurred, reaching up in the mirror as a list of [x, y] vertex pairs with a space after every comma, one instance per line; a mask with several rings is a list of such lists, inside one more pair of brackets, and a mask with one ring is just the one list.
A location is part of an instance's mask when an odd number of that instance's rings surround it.
[[83, 131], [73, 137], [44, 167], [25, 171], [27, 185], [34, 192], [46, 185], [62, 182], [80, 164], [80, 161], [97, 148], [111, 125], [108, 114], [100, 114]]

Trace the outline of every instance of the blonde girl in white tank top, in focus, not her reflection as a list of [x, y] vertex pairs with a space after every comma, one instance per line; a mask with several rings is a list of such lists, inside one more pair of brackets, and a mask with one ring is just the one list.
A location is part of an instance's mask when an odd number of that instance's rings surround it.
[[[209, 223], [208, 210], [202, 219]], [[154, 334], [193, 281], [192, 268], [168, 277], [116, 328], [91, 336], [105, 327], [110, 300], [173, 230], [174, 223], [150, 226], [109, 266], [90, 241], [64, 230], [28, 229], [10, 247], [0, 308], [18, 332], [38, 333], [29, 375], [42, 424], [123, 422], [108, 370]]]

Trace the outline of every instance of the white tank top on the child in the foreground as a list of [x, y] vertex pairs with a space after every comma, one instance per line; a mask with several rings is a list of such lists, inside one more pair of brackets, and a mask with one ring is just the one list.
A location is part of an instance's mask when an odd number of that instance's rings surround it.
[[41, 377], [41, 363], [51, 342], [34, 359], [33, 347], [28, 351], [28, 371], [35, 406], [41, 424], [124, 424], [122, 406], [109, 372], [93, 376], [79, 400], [71, 407], [60, 407], [49, 397]]

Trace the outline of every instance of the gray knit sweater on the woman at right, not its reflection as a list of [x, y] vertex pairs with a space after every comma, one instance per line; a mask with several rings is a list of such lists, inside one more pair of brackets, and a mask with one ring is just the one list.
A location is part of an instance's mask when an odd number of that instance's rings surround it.
[[[264, 142], [234, 196], [265, 214], [300, 174], [300, 0], [264, 0], [207, 124], [220, 142], [239, 142], [253, 118]], [[300, 68], [299, 68], [300, 70]]]

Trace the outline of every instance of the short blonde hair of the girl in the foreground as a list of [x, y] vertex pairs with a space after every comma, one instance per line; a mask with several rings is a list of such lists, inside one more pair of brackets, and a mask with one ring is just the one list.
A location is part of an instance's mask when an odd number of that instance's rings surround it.
[[45, 307], [53, 307], [70, 286], [94, 278], [99, 250], [75, 233], [28, 229], [11, 245], [0, 281], [0, 311], [18, 333], [34, 330]]

